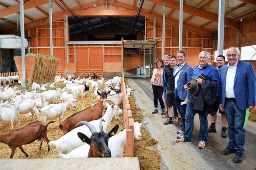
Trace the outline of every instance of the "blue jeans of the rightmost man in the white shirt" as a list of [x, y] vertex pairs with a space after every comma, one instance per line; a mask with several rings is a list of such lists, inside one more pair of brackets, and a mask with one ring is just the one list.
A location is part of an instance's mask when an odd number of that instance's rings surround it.
[[225, 99], [224, 111], [228, 121], [228, 147], [244, 153], [245, 130], [243, 129], [245, 110], [239, 109], [235, 99]]

